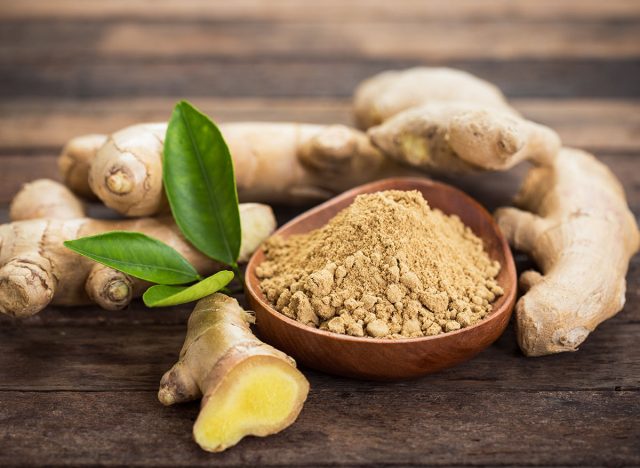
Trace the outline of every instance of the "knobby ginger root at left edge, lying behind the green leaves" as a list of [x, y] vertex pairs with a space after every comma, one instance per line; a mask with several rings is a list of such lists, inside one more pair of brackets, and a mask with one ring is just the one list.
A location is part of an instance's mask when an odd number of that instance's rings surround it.
[[[58, 185], [49, 193], [34, 192], [34, 186]], [[66, 193], [65, 193], [66, 192]], [[147, 283], [97, 264], [66, 247], [63, 242], [107, 231], [143, 232], [180, 252], [202, 275], [212, 274], [223, 266], [201, 254], [181, 235], [171, 217], [133, 220], [97, 220], [84, 217], [67, 219], [34, 219], [33, 213], [47, 204], [56, 205], [56, 194], [73, 195], [53, 181], [37, 181], [28, 185], [16, 200], [29, 199], [30, 204], [13, 203], [14, 221], [0, 226], [0, 312], [27, 317], [49, 303], [81, 305], [96, 302], [108, 310], [125, 307], [133, 297], [142, 294]], [[39, 196], [39, 198], [38, 198]], [[23, 212], [20, 208], [25, 207]], [[76, 207], [77, 208], [77, 207]], [[246, 261], [253, 251], [275, 230], [276, 221], [267, 205], [240, 205], [242, 244], [239, 261]]]

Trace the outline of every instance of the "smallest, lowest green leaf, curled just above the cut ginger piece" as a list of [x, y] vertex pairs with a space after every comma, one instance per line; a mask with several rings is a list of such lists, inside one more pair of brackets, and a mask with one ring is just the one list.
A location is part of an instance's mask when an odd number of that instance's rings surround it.
[[224, 288], [233, 279], [233, 273], [219, 271], [193, 286], [151, 286], [142, 296], [147, 307], [167, 307], [197, 301]]

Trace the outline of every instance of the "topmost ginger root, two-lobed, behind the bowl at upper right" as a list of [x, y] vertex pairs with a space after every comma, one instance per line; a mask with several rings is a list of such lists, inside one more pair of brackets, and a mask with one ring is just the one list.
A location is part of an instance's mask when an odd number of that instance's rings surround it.
[[356, 119], [384, 154], [430, 172], [506, 170], [549, 162], [551, 129], [522, 118], [492, 84], [446, 68], [384, 72], [355, 94]]

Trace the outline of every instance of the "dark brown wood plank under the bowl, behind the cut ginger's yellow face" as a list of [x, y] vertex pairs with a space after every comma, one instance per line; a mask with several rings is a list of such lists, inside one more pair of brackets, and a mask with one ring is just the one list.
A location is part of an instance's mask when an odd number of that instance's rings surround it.
[[[637, 286], [637, 285], [636, 285]], [[640, 302], [630, 298], [628, 310], [602, 324], [577, 353], [527, 359], [519, 351], [512, 328], [476, 358], [452, 369], [411, 382], [387, 387], [366, 384], [379, 392], [396, 388], [414, 392], [458, 391], [640, 391]], [[2, 391], [111, 391], [154, 390], [160, 377], [177, 359], [186, 332], [191, 307], [153, 311], [155, 317], [136, 305], [131, 316], [119, 315], [118, 324], [99, 323], [108, 313], [88, 307], [76, 315], [84, 325], [55, 322], [36, 326], [35, 320], [14, 322], [0, 319], [0, 400]], [[49, 310], [41, 313], [42, 322]], [[635, 315], [635, 317], [634, 317]], [[152, 323], [145, 323], [140, 320]], [[179, 324], [161, 324], [164, 320]], [[635, 320], [635, 321], [633, 321]], [[41, 322], [41, 323], [42, 323]], [[612, 363], [615, 363], [612, 365]], [[303, 369], [323, 386], [347, 391], [364, 383], [321, 377]], [[586, 376], [588, 375], [588, 378]]]

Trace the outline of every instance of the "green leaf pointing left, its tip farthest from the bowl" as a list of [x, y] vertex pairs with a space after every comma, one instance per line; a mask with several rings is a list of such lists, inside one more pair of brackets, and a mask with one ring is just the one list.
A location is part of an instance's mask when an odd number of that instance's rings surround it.
[[185, 284], [198, 281], [196, 269], [172, 247], [139, 232], [111, 231], [66, 241], [74, 252], [145, 281]]

